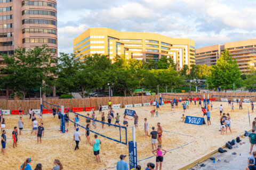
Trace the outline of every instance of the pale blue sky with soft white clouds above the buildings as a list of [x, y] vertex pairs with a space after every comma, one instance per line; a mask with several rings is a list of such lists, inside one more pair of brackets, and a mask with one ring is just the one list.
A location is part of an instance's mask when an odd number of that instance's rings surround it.
[[58, 51], [91, 27], [154, 32], [195, 40], [195, 47], [255, 39], [256, 1], [58, 0]]

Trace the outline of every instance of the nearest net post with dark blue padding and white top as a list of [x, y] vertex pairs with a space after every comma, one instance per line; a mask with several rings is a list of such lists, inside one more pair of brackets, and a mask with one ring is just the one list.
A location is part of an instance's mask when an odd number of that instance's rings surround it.
[[137, 143], [135, 140], [135, 126], [132, 127], [132, 141], [129, 141], [129, 165], [130, 169], [137, 166]]

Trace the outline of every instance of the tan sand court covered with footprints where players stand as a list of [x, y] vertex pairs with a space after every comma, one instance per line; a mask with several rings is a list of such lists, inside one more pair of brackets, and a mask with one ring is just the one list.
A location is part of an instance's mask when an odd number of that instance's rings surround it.
[[[222, 104], [223, 112], [229, 113], [231, 116], [231, 130], [232, 134], [229, 132], [225, 135], [221, 135], [220, 130], [220, 112], [219, 106]], [[181, 120], [183, 114], [183, 109], [179, 103], [178, 108], [171, 111], [171, 105], [165, 104], [158, 111], [158, 117], [151, 117], [150, 111], [153, 109], [151, 106], [131, 108], [136, 111], [139, 116], [139, 129], [136, 131], [137, 140], [137, 152], [139, 165], [145, 169], [148, 162], [155, 163], [155, 157], [152, 157], [151, 153], [151, 139], [149, 137], [145, 138], [145, 132], [143, 130], [144, 118], [147, 118], [149, 123], [149, 133], [151, 132], [151, 127], [155, 126], [157, 128], [157, 123], [160, 122], [163, 127], [162, 135], [162, 147], [169, 151], [164, 156], [163, 169], [179, 169], [187, 164], [194, 162], [196, 159], [209, 154], [209, 152], [218, 149], [220, 146], [225, 145], [225, 143], [239, 134], [243, 133], [244, 130], [249, 130], [249, 118], [247, 106], [249, 106], [251, 122], [256, 117], [256, 114], [251, 113], [251, 106], [249, 103], [243, 103], [243, 111], [239, 110], [239, 106], [234, 103], [235, 112], [230, 112], [231, 107], [228, 103], [224, 102], [213, 102], [213, 111], [211, 111], [211, 122], [212, 125], [194, 125], [185, 124]], [[114, 109], [116, 113], [121, 115], [120, 123], [123, 125], [123, 114], [124, 108]], [[79, 114], [86, 115], [89, 112], [81, 112]], [[101, 120], [101, 114], [95, 111], [97, 119]], [[105, 119], [107, 122], [105, 111]], [[186, 110], [185, 115], [202, 117], [203, 113], [201, 107], [193, 104], [189, 105], [189, 109]], [[75, 117], [73, 113], [69, 114], [70, 120]], [[29, 120], [28, 115], [24, 115], [23, 121], [24, 131], [22, 135], [18, 136], [18, 148], [12, 148], [12, 136], [14, 126], [18, 126], [19, 116], [17, 115], [4, 115], [6, 121], [6, 156], [1, 155], [0, 158], [4, 164], [0, 164], [0, 169], [18, 169], [21, 164], [26, 160], [26, 158], [31, 157], [33, 162], [31, 167], [34, 169], [37, 163], [43, 165], [43, 169], [51, 169], [54, 159], [59, 159], [63, 164], [64, 169], [113, 169], [116, 166], [116, 162], [119, 160], [119, 155], [128, 155], [128, 146], [121, 143], [99, 137], [102, 140], [102, 145], [100, 145], [100, 155], [102, 163], [97, 164], [95, 156], [93, 155], [93, 150], [90, 145], [86, 145], [85, 130], [80, 128], [79, 132], [81, 135], [81, 142], [79, 143], [79, 150], [74, 151], [75, 141], [73, 140], [73, 133], [75, 131], [74, 124], [69, 122], [69, 132], [60, 133], [60, 124], [58, 123], [58, 115], [53, 118], [51, 114], [43, 115], [43, 123], [45, 128], [45, 135], [42, 138], [42, 143], [37, 144], [37, 138], [35, 133], [31, 133], [31, 120]], [[39, 115], [36, 115], [37, 121], [39, 120]], [[85, 125], [85, 118], [81, 117], [81, 124]], [[131, 117], [129, 117], [131, 118]], [[205, 117], [206, 121], [206, 117]], [[132, 128], [133, 120], [129, 120], [129, 128], [127, 129], [127, 141], [132, 140]], [[115, 123], [115, 121], [111, 121]], [[95, 129], [91, 125], [92, 131]], [[117, 130], [115, 128], [101, 128], [101, 123], [97, 123], [97, 132], [113, 135]], [[119, 133], [119, 131], [118, 131]], [[123, 133], [123, 132], [122, 132]], [[94, 133], [90, 133], [90, 141], [94, 139]], [[181, 162], [182, 160], [182, 162]], [[126, 162], [129, 159], [126, 158]], [[115, 168], [114, 168], [115, 169]]]

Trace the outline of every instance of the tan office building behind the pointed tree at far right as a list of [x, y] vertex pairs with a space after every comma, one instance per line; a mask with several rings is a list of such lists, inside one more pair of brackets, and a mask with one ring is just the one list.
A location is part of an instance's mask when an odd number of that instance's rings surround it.
[[256, 65], [256, 39], [234, 41], [224, 45], [215, 45], [196, 49], [196, 65], [214, 65], [224, 49], [228, 49], [236, 58], [241, 72], [247, 73], [249, 67]]

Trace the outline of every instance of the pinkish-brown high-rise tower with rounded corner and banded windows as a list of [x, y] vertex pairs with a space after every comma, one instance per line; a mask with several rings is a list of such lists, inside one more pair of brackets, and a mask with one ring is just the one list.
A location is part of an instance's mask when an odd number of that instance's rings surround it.
[[[26, 50], [47, 44], [56, 57], [57, 1], [0, 0], [0, 55], [12, 55], [14, 49]], [[0, 58], [0, 65], [4, 65]], [[4, 91], [0, 96], [8, 96]]]

